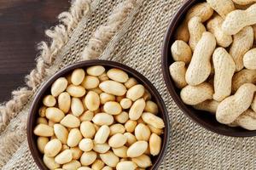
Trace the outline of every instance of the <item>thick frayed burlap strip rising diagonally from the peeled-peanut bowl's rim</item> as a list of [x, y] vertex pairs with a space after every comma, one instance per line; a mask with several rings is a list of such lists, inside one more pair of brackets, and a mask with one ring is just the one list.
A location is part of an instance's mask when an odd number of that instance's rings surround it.
[[127, 0], [120, 3], [113, 13], [108, 16], [107, 22], [99, 26], [94, 35], [90, 38], [88, 45], [82, 52], [82, 59], [96, 59], [102, 54], [113, 35], [119, 31], [131, 9], [135, 7], [136, 0]]

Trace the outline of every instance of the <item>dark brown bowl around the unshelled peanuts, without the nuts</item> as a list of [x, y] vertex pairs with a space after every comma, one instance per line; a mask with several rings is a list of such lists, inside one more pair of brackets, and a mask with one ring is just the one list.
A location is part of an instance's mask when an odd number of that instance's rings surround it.
[[201, 127], [207, 128], [214, 133], [223, 134], [233, 137], [251, 137], [256, 135], [256, 131], [248, 131], [241, 127], [228, 127], [224, 124], [221, 124], [216, 121], [215, 116], [210, 114], [207, 111], [198, 111], [189, 105], [185, 105], [180, 98], [180, 89], [176, 88], [172, 77], [169, 73], [169, 66], [173, 63], [171, 46], [175, 41], [174, 33], [177, 30], [177, 27], [181, 24], [184, 19], [185, 14], [195, 3], [205, 2], [202, 0], [187, 0], [183, 3], [182, 7], [179, 8], [177, 14], [172, 18], [171, 23], [169, 24], [166, 36], [164, 37], [163, 47], [162, 47], [162, 71], [164, 74], [164, 79], [166, 82], [166, 87], [168, 88], [172, 98], [176, 102], [177, 106], [185, 113], [186, 116], [189, 116], [191, 120], [201, 125]]

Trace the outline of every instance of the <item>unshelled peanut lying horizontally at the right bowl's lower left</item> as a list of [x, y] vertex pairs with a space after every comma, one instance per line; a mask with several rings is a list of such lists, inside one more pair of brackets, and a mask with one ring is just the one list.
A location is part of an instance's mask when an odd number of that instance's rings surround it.
[[180, 97], [187, 105], [197, 105], [207, 99], [212, 99], [212, 94], [212, 85], [203, 82], [197, 86], [186, 86], [181, 90]]

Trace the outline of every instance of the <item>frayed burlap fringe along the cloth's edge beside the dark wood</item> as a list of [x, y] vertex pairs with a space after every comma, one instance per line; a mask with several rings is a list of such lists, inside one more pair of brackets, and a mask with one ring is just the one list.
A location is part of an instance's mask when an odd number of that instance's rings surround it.
[[61, 24], [45, 31], [46, 36], [50, 38], [50, 44], [48, 45], [47, 42], [38, 44], [38, 49], [41, 52], [36, 68], [26, 76], [27, 87], [14, 91], [12, 99], [0, 106], [0, 133], [26, 104], [32, 91], [38, 87], [44, 77], [49, 75], [49, 67], [53, 64], [55, 55], [65, 45], [82, 16], [89, 14], [90, 3], [90, 0], [73, 1], [69, 12], [59, 15]]

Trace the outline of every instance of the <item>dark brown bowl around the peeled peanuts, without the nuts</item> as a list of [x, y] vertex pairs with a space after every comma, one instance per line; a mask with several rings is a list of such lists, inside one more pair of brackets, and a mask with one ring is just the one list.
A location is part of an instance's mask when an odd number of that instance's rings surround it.
[[39, 152], [38, 147], [37, 147], [37, 136], [34, 135], [33, 129], [36, 126], [36, 119], [38, 117], [38, 109], [40, 105], [42, 105], [42, 98], [44, 97], [45, 94], [49, 94], [49, 89], [50, 86], [53, 82], [58, 77], [63, 77], [66, 76], [68, 73], [73, 71], [76, 68], [86, 68], [91, 65], [103, 65], [106, 68], [119, 68], [123, 71], [126, 71], [131, 77], [135, 77], [138, 82], [143, 84], [145, 88], [148, 89], [148, 92], [152, 95], [152, 100], [156, 102], [156, 104], [159, 106], [159, 111], [160, 114], [159, 116], [164, 120], [166, 127], [164, 128], [164, 133], [162, 134], [162, 147], [160, 150], [160, 155], [159, 156], [154, 156], [152, 159], [153, 166], [148, 168], [148, 169], [158, 169], [160, 166], [161, 161], [163, 160], [164, 156], [166, 155], [166, 150], [167, 150], [167, 145], [169, 143], [169, 138], [170, 138], [170, 122], [168, 118], [168, 113], [166, 111], [166, 106], [161, 99], [160, 94], [154, 88], [153, 84], [148, 81], [146, 77], [144, 77], [142, 74], [139, 72], [131, 69], [131, 67], [128, 67], [126, 65], [122, 65], [117, 62], [113, 61], [108, 61], [108, 60], [88, 60], [88, 61], [82, 61], [73, 65], [69, 65], [66, 68], [62, 69], [61, 71], [58, 71], [53, 77], [49, 78], [47, 82], [44, 83], [42, 88], [38, 90], [38, 94], [36, 95], [35, 99], [32, 102], [32, 106], [30, 109], [30, 113], [28, 116], [28, 121], [27, 121], [27, 140], [29, 144], [30, 151], [32, 153], [32, 157], [34, 161], [36, 161], [38, 167], [40, 169], [48, 169], [43, 162], [43, 155]]

